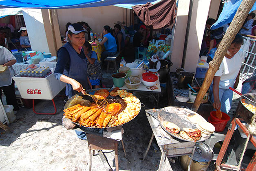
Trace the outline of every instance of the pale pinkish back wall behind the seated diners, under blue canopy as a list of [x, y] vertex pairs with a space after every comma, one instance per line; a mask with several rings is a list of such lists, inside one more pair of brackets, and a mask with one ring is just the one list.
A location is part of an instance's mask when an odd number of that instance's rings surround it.
[[[123, 22], [123, 8], [115, 6], [92, 7], [81, 9], [57, 9], [60, 33], [64, 35], [66, 23], [87, 22], [94, 33], [102, 33], [103, 26], [114, 28], [117, 21]], [[126, 22], [126, 9], [124, 9]], [[127, 22], [130, 22], [130, 10], [127, 10]]]

